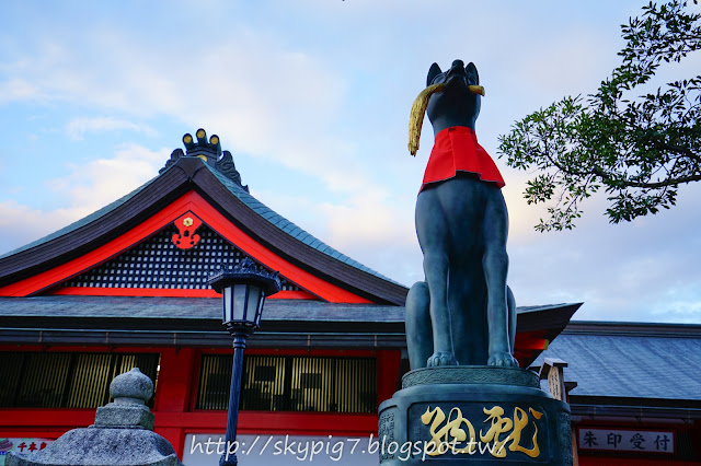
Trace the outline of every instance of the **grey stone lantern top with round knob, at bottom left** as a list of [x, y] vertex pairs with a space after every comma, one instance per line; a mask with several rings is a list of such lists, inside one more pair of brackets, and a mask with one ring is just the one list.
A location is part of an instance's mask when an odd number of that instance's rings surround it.
[[73, 429], [34, 453], [10, 452], [7, 466], [182, 466], [173, 445], [153, 432], [153, 413], [145, 405], [153, 383], [138, 369], [110, 384], [114, 403], [97, 408], [95, 423]]

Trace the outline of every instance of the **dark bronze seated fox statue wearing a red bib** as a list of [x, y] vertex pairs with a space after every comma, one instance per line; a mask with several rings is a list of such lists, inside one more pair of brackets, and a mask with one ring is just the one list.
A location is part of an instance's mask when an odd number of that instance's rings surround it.
[[479, 84], [475, 66], [461, 60], [445, 72], [434, 63], [426, 79], [435, 143], [416, 199], [425, 281], [406, 296], [412, 369], [518, 366], [516, 304], [506, 284], [504, 180], [474, 133], [483, 94]]

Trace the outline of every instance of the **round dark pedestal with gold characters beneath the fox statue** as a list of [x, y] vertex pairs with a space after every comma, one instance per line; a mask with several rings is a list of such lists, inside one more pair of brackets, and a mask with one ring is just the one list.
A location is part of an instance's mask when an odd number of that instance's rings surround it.
[[570, 407], [516, 368], [409, 372], [379, 408], [380, 465], [572, 465]]

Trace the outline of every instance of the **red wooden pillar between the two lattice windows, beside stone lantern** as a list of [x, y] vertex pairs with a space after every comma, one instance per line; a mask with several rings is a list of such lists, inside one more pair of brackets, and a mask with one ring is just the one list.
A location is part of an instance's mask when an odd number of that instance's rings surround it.
[[153, 400], [156, 417], [153, 430], [171, 442], [181, 458], [185, 443], [184, 413], [189, 411], [191, 395], [197, 383], [198, 353], [193, 348], [166, 348], [161, 352], [158, 386]]

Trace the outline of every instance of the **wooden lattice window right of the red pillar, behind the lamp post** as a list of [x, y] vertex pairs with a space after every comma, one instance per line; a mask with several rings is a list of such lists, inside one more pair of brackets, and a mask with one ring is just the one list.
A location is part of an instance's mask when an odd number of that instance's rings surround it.
[[[203, 356], [196, 409], [228, 409], [231, 362], [231, 356]], [[239, 409], [377, 412], [377, 361], [246, 356]]]

